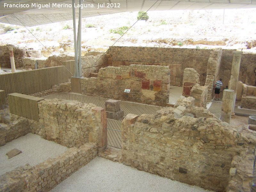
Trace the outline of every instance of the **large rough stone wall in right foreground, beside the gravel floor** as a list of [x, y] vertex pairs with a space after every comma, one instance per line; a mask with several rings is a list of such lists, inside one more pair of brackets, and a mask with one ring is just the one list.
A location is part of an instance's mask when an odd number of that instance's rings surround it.
[[155, 115], [122, 122], [123, 162], [139, 170], [214, 191], [251, 191], [255, 133], [238, 132], [193, 98]]

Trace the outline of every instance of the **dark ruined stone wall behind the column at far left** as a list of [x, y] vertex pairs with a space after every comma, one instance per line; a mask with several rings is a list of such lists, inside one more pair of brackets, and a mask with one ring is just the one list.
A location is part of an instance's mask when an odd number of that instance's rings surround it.
[[[13, 55], [15, 67], [20, 68], [23, 66], [22, 58], [25, 52], [19, 47], [13, 47]], [[11, 68], [10, 52], [7, 46], [0, 46], [0, 64], [1, 68]]]

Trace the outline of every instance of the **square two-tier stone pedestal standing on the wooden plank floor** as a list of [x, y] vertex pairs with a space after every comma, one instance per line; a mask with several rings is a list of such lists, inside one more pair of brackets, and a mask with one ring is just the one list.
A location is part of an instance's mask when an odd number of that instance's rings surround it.
[[120, 108], [120, 101], [109, 99], [105, 101], [105, 111], [108, 119], [119, 120], [124, 117], [124, 111]]

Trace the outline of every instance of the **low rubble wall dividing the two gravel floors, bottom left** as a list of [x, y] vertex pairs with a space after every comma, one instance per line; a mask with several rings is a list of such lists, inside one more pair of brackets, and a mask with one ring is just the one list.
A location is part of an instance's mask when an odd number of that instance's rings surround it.
[[26, 164], [0, 176], [0, 191], [47, 192], [88, 164], [98, 154], [96, 143], [70, 148], [36, 166]]

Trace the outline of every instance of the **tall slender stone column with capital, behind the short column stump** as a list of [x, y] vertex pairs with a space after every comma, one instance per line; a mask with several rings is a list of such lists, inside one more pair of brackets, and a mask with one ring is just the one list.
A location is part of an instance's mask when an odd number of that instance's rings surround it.
[[230, 84], [229, 89], [234, 90], [234, 96], [233, 96], [233, 106], [232, 106], [232, 115], [235, 115], [235, 103], [236, 103], [236, 92], [237, 92], [237, 84], [238, 84], [238, 76], [239, 76], [239, 70], [240, 70], [240, 61], [241, 61], [241, 54], [242, 51], [233, 51], [233, 63], [232, 63], [232, 69], [231, 69], [231, 78], [230, 78]]

